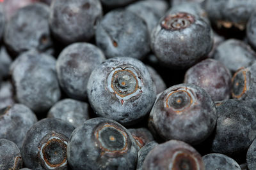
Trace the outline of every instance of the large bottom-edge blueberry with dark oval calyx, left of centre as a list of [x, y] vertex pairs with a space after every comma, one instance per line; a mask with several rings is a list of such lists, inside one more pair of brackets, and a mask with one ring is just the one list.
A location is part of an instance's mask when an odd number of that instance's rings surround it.
[[92, 118], [72, 132], [68, 164], [72, 169], [134, 169], [136, 143], [131, 133], [108, 118]]

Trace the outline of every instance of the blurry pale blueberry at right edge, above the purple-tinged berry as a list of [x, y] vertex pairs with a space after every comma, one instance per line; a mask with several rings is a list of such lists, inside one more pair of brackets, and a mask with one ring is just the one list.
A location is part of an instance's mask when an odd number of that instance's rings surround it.
[[237, 71], [241, 67], [250, 66], [256, 59], [256, 53], [243, 41], [228, 39], [216, 48], [213, 57], [230, 71]]

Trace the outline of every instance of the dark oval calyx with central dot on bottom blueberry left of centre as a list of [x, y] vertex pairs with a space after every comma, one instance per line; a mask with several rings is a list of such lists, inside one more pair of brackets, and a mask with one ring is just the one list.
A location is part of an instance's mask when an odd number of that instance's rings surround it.
[[94, 136], [103, 153], [125, 153], [128, 150], [127, 133], [114, 124], [100, 125]]

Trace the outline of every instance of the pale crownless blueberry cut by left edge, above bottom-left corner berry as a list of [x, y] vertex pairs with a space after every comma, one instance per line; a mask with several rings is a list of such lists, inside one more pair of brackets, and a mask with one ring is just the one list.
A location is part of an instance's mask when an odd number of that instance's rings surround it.
[[19, 148], [28, 130], [37, 122], [35, 113], [23, 104], [13, 104], [1, 110], [0, 138], [13, 141]]

